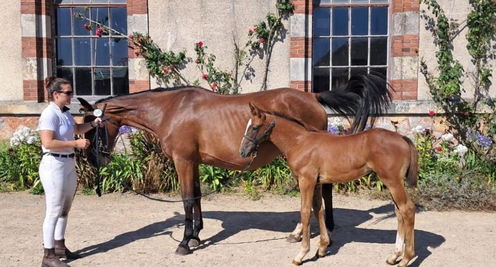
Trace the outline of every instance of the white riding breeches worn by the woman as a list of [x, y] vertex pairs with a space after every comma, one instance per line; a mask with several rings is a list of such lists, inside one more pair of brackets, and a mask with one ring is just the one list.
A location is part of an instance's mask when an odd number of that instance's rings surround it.
[[43, 243], [50, 249], [54, 247], [54, 240], [64, 239], [67, 215], [77, 186], [74, 158], [44, 155], [39, 173], [47, 203]]

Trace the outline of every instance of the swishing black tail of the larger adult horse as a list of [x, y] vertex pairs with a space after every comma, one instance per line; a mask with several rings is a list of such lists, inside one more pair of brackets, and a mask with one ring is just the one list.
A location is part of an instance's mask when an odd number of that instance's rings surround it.
[[[317, 95], [317, 101], [348, 118], [354, 115], [351, 132], [363, 131], [382, 116], [391, 102], [390, 86], [385, 77], [376, 74], [352, 76], [345, 86], [338, 86]], [[392, 89], [391, 89], [392, 90]]]

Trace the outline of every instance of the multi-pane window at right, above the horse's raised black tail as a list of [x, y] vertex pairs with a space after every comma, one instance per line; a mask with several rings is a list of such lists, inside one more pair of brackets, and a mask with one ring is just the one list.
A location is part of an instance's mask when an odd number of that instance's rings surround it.
[[387, 76], [388, 0], [313, 0], [312, 88], [331, 89], [354, 73]]

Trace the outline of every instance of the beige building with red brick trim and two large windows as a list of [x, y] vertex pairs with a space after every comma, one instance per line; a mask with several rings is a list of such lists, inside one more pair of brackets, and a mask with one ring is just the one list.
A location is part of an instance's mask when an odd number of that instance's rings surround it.
[[[438, 0], [446, 14], [463, 21], [471, 10], [468, 0]], [[143, 58], [116, 36], [97, 37], [71, 15], [89, 6], [92, 18], [106, 21], [124, 34], [147, 32], [166, 50], [186, 50], [202, 41], [217, 55], [225, 70], [235, 64], [234, 43], [244, 45], [248, 28], [275, 12], [276, 0], [3, 0], [0, 3], [0, 139], [19, 126], [36, 127], [46, 106], [44, 79], [57, 75], [73, 83], [78, 96], [96, 100], [109, 95], [153, 89]], [[271, 56], [268, 88], [289, 87], [322, 91], [355, 71], [384, 73], [395, 88], [394, 104], [380, 125], [398, 122], [401, 133], [432, 124], [435, 110], [429, 89], [419, 73], [424, 58], [434, 69], [431, 32], [419, 0], [294, 0], [294, 11], [283, 20], [281, 40]], [[427, 12], [430, 15], [430, 12]], [[471, 71], [463, 29], [454, 40], [454, 55]], [[242, 92], [261, 85], [263, 60], [253, 61], [255, 76]], [[494, 64], [493, 64], [494, 65]], [[468, 68], [467, 68], [468, 66]], [[184, 75], [199, 75], [194, 64]], [[493, 69], [493, 81], [496, 70]], [[490, 88], [496, 96], [496, 83]], [[206, 84], [202, 85], [208, 88]], [[466, 96], [473, 92], [465, 79]], [[74, 101], [75, 100], [74, 98]], [[72, 111], [77, 115], [78, 105]]]

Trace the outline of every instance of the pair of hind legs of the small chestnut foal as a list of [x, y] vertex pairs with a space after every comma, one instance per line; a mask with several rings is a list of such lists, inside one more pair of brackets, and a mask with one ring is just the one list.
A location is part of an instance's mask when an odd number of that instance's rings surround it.
[[[380, 177], [380, 175], [379, 175]], [[404, 177], [404, 176], [402, 176]], [[401, 237], [404, 236], [405, 250], [403, 253], [403, 259], [399, 263], [399, 267], [407, 267], [408, 263], [415, 257], [415, 241], [414, 241], [414, 225], [415, 225], [415, 204], [408, 196], [408, 193], [403, 186], [403, 178], [393, 178], [393, 179], [382, 179], [384, 184], [389, 188], [393, 201], [397, 206], [398, 213], [402, 220], [398, 217], [398, 237], [396, 238], [396, 244], [394, 248], [394, 254], [391, 255], [387, 263], [390, 264], [392, 259], [396, 257], [397, 250], [401, 243]], [[396, 210], [395, 210], [396, 211]], [[400, 226], [400, 221], [403, 221], [403, 227]], [[403, 231], [403, 234], [400, 232]], [[399, 239], [399, 240], [398, 240]], [[396, 257], [397, 259], [397, 257]], [[396, 260], [395, 259], [395, 260]]]

